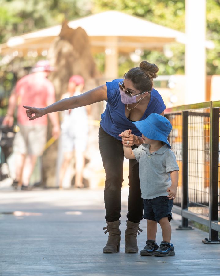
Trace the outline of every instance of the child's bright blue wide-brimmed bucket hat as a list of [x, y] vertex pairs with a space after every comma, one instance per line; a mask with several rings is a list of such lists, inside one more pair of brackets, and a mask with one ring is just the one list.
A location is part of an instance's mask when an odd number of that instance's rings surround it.
[[172, 130], [172, 125], [170, 121], [162, 115], [151, 113], [146, 119], [133, 122], [133, 124], [135, 124], [136, 128], [138, 128], [148, 139], [162, 141], [171, 148], [167, 137]]

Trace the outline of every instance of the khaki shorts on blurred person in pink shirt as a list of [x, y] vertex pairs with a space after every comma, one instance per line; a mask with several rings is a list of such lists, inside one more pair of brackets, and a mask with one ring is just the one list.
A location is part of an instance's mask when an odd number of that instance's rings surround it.
[[47, 139], [45, 125], [19, 125], [19, 132], [14, 137], [13, 151], [21, 154], [41, 156]]

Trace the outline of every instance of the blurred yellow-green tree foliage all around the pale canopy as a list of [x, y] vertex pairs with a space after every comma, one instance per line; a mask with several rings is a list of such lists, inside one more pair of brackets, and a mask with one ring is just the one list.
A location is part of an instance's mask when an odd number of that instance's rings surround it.
[[[184, 0], [0, 0], [0, 43], [6, 42], [12, 36], [61, 24], [64, 19], [73, 20], [106, 10], [121, 11], [181, 32], [185, 31]], [[215, 44], [214, 50], [206, 51], [207, 75], [219, 75], [220, 1], [207, 0], [206, 11], [206, 38]], [[126, 28], [126, 22], [124, 27]], [[103, 72], [104, 53], [95, 54], [94, 58], [98, 70]], [[0, 116], [5, 113], [4, 106], [19, 74], [28, 73], [37, 59], [39, 57], [16, 57], [13, 67], [10, 63], [0, 67], [0, 98], [3, 101]], [[184, 74], [183, 44], [169, 44], [169, 48], [164, 52], [144, 51], [142, 59], [159, 64], [160, 75]], [[21, 63], [23, 72], [20, 71], [21, 66], [18, 66]], [[124, 75], [124, 72], [136, 65], [129, 56], [120, 56], [119, 75]], [[16, 71], [16, 68], [19, 70]]]

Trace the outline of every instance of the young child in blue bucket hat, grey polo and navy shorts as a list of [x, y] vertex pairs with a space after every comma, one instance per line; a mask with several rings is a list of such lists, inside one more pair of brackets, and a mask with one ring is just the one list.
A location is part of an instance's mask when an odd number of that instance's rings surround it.
[[[125, 157], [137, 159], [139, 162], [140, 189], [144, 202], [143, 218], [147, 220], [147, 241], [140, 255], [173, 256], [175, 252], [173, 244], [170, 243], [170, 220], [173, 199], [177, 193], [179, 167], [167, 140], [172, 125], [169, 120], [156, 113], [133, 124], [142, 133], [142, 145], [132, 150], [127, 142], [131, 134], [130, 129], [122, 132], [120, 136], [128, 138], [123, 142]], [[155, 242], [157, 223], [161, 226], [163, 236], [160, 246]]]

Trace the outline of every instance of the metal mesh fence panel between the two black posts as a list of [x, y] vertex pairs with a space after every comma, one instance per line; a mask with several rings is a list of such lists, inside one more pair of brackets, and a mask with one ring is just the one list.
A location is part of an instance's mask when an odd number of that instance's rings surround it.
[[188, 210], [208, 217], [210, 109], [190, 110], [188, 120]]

